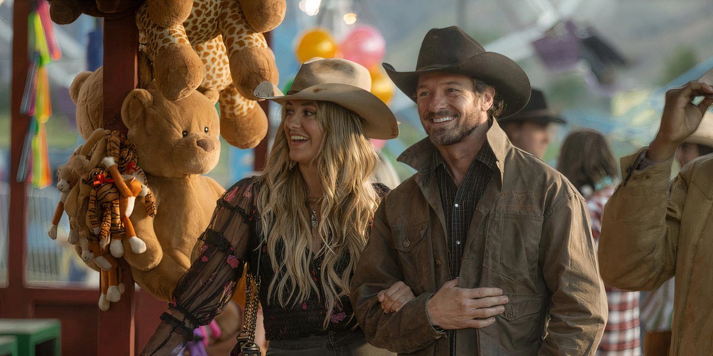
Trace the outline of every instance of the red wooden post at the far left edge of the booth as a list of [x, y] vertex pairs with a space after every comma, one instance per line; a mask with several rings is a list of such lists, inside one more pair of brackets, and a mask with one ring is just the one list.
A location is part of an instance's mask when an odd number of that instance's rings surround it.
[[15, 0], [13, 8], [12, 39], [12, 95], [10, 124], [10, 212], [8, 248], [8, 288], [3, 289], [0, 302], [3, 318], [29, 318], [31, 305], [24, 302], [27, 261], [27, 181], [17, 182], [22, 145], [24, 144], [31, 117], [20, 114], [22, 94], [28, 70], [27, 16], [29, 0]]

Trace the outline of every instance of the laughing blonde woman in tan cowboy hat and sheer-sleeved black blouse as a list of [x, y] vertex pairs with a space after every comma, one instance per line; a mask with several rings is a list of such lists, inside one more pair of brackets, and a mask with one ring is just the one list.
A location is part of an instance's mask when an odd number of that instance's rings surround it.
[[369, 139], [399, 135], [394, 114], [370, 88], [366, 68], [314, 58], [287, 95], [269, 82], [255, 89], [282, 105], [282, 132], [262, 176], [242, 179], [217, 201], [196, 245], [200, 255], [144, 353], [177, 353], [230, 300], [247, 261], [260, 278], [267, 355], [389, 354], [366, 343], [347, 295], [388, 192], [369, 182], [377, 162]]

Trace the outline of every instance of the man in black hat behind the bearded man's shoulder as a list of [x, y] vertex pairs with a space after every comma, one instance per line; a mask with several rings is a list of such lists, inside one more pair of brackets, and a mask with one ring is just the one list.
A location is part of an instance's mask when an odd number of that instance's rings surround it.
[[523, 110], [498, 118], [498, 125], [503, 127], [515, 147], [540, 158], [545, 157], [550, 146], [552, 125], [565, 123], [565, 119], [547, 108], [545, 95], [537, 89], [532, 90], [530, 101]]

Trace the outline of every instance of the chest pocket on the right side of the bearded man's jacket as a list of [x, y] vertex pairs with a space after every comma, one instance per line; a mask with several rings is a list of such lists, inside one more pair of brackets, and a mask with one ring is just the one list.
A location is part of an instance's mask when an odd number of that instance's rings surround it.
[[[542, 216], [492, 214], [486, 225], [483, 267], [526, 285], [538, 275]], [[530, 286], [535, 287], [535, 286]], [[503, 288], [505, 289], [505, 288]]]

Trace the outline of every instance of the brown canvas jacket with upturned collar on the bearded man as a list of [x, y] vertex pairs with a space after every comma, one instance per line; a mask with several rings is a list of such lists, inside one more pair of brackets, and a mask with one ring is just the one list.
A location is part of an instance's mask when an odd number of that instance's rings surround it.
[[[492, 120], [491, 120], [492, 121]], [[589, 212], [577, 190], [519, 150], [491, 122], [498, 159], [473, 215], [460, 287], [498, 287], [505, 312], [486, 328], [457, 331], [457, 355], [594, 355], [607, 318]], [[448, 337], [429, 324], [426, 303], [451, 276], [445, 217], [428, 139], [400, 162], [418, 170], [381, 202], [351, 298], [366, 339], [402, 355], [448, 355]], [[404, 281], [416, 295], [386, 314], [380, 290]]]

